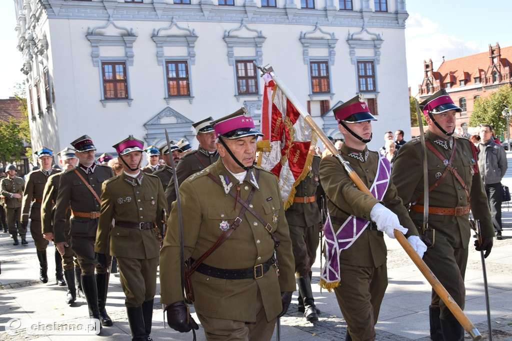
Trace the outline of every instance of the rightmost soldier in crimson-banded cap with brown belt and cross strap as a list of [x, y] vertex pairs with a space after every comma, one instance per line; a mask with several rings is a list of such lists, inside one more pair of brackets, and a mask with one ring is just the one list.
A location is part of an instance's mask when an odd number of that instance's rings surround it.
[[[480, 219], [483, 242], [477, 250], [485, 250], [485, 257], [493, 246], [493, 223], [485, 188], [478, 174], [476, 148], [470, 141], [452, 135], [456, 113], [462, 109], [453, 103], [444, 89], [423, 101], [420, 107], [429, 125], [425, 133], [428, 147], [426, 167], [432, 190], [424, 193], [422, 145], [419, 139], [400, 148], [393, 165], [392, 178], [403, 203], [410, 205], [409, 214], [416, 226], [422, 226], [423, 198], [429, 196], [427, 236], [432, 247], [425, 254], [424, 261], [455, 302], [464, 309], [464, 273], [471, 237], [468, 220], [470, 208], [474, 217]], [[437, 186], [434, 186], [436, 183]], [[464, 338], [464, 329], [434, 290], [430, 323], [433, 340]]]

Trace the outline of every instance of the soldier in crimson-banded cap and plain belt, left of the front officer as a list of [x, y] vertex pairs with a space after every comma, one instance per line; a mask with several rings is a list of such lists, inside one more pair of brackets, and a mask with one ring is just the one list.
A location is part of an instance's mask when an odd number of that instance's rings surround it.
[[[129, 138], [113, 146], [123, 173], [103, 183], [101, 215], [96, 234], [98, 261], [110, 253], [119, 266], [121, 286], [132, 340], [151, 340], [153, 298], [157, 285], [160, 243], [156, 222], [161, 225], [167, 201], [160, 180], [140, 170], [144, 143]], [[112, 219], [115, 219], [111, 229]]]

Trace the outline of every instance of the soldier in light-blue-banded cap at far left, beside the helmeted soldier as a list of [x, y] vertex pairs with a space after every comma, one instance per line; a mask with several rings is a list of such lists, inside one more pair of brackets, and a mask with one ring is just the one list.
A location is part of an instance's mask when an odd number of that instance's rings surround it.
[[[42, 283], [47, 283], [48, 262], [46, 258], [46, 248], [49, 241], [42, 235], [42, 192], [45, 190], [45, 184], [48, 177], [52, 174], [60, 173], [60, 169], [52, 168], [52, 150], [42, 146], [35, 154], [37, 155], [37, 161], [40, 167], [27, 175], [22, 201], [22, 224], [24, 228], [27, 228], [28, 220], [30, 218], [30, 234], [34, 239], [37, 259], [39, 260], [39, 279]], [[55, 282], [57, 285], [64, 286], [66, 285], [66, 281], [62, 274], [62, 257], [55, 247], [53, 247], [53, 249], [55, 259]]]

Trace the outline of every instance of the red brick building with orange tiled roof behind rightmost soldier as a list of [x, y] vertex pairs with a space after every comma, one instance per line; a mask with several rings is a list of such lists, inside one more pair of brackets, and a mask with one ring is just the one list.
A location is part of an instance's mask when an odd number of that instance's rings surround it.
[[512, 85], [511, 62], [512, 46], [500, 48], [498, 43], [495, 46], [489, 44], [488, 52], [443, 60], [437, 71], [434, 71], [432, 59], [424, 60], [424, 77], [419, 85], [420, 101], [445, 88], [463, 110], [457, 117], [457, 127], [462, 126], [467, 131], [475, 99], [492, 94], [502, 85]]

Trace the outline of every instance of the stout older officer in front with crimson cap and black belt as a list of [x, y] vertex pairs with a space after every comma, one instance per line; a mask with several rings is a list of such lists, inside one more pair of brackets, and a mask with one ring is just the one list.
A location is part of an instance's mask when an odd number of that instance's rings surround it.
[[[182, 213], [187, 217], [185, 258], [197, 260], [221, 235], [228, 238], [191, 275], [194, 307], [208, 340], [270, 340], [276, 318], [286, 313], [295, 290], [293, 253], [278, 179], [253, 167], [256, 139], [262, 134], [246, 110], [212, 125], [221, 159], [180, 186]], [[169, 326], [186, 332], [198, 327], [187, 314], [180, 286], [177, 217], [174, 204], [160, 252], [160, 281], [165, 283], [161, 302], [167, 304]]]

